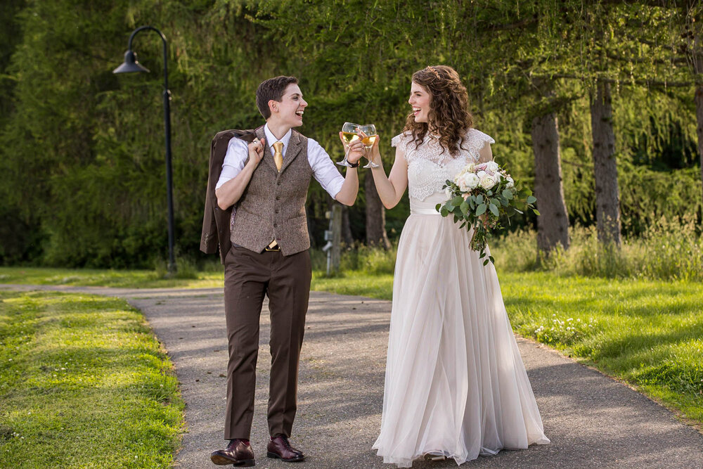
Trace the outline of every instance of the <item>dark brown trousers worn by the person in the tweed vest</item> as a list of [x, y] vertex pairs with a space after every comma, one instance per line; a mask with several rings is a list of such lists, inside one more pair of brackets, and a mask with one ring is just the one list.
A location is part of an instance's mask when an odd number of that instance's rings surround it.
[[225, 439], [250, 437], [254, 416], [259, 318], [264, 295], [271, 315], [269, 434], [290, 437], [298, 359], [310, 296], [310, 254], [252, 252], [233, 245], [225, 259], [224, 310], [229, 342]]

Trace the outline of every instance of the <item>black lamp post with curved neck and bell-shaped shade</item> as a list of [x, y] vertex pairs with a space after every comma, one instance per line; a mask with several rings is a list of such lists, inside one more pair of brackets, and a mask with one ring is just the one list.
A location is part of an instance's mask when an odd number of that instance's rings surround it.
[[152, 30], [157, 32], [164, 44], [164, 128], [166, 131], [166, 186], [168, 200], [169, 217], [169, 272], [176, 271], [176, 259], [174, 257], [174, 200], [173, 200], [173, 176], [171, 171], [171, 91], [169, 91], [169, 72], [167, 69], [166, 37], [153, 26], [142, 26], [132, 31], [127, 44], [127, 52], [124, 53], [124, 63], [112, 70], [112, 73], [134, 73], [148, 72], [148, 68], [143, 67], [136, 60], [136, 53], [131, 49], [131, 41], [136, 33], [142, 30]]

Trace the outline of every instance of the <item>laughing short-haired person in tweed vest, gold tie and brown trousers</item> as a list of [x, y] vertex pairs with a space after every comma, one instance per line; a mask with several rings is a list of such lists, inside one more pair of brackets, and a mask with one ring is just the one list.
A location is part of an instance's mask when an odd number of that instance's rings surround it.
[[325, 150], [295, 127], [307, 102], [295, 77], [274, 77], [257, 89], [266, 124], [247, 143], [229, 141], [215, 194], [232, 210], [232, 247], [225, 258], [224, 302], [229, 343], [224, 450], [217, 465], [254, 465], [250, 444], [254, 413], [259, 316], [264, 295], [271, 312], [270, 458], [302, 461], [288, 442], [296, 411], [297, 371], [310, 292], [310, 240], [305, 200], [314, 177], [335, 200], [352, 205], [359, 190], [356, 167], [363, 144], [349, 145], [352, 167], [343, 177]]

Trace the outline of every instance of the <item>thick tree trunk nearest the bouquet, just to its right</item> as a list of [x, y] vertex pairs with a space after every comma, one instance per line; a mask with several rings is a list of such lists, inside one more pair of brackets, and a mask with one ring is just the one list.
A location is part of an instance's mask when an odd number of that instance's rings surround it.
[[559, 129], [554, 113], [532, 120], [534, 192], [537, 198], [537, 248], [546, 255], [557, 244], [569, 248], [569, 216], [564, 201]]

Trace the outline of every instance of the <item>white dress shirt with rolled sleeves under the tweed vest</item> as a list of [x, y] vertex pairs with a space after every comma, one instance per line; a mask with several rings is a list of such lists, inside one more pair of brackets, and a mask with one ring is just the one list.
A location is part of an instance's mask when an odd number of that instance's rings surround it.
[[[266, 136], [266, 144], [269, 145], [269, 150], [271, 150], [271, 155], [273, 155], [273, 143], [277, 141], [283, 142], [283, 160], [285, 161], [285, 152], [288, 150], [288, 142], [290, 141], [290, 135], [292, 134], [292, 129], [283, 136], [282, 139], [276, 139], [271, 131], [269, 130], [269, 124], [264, 126], [264, 135]], [[222, 172], [217, 180], [216, 189], [230, 179], [234, 179], [237, 174], [239, 174], [242, 169], [244, 169], [244, 163], [249, 156], [249, 146], [247, 142], [237, 137], [233, 137], [229, 141], [227, 146], [227, 153], [224, 157], [224, 162], [222, 163]], [[323, 189], [327, 191], [332, 198], [335, 198], [338, 193], [342, 190], [342, 184], [344, 184], [344, 176], [337, 171], [335, 163], [330, 159], [330, 155], [327, 154], [324, 148], [320, 146], [319, 143], [313, 139], [308, 139], [308, 162], [312, 168], [313, 176], [320, 183]]]

